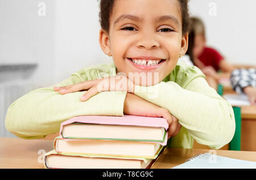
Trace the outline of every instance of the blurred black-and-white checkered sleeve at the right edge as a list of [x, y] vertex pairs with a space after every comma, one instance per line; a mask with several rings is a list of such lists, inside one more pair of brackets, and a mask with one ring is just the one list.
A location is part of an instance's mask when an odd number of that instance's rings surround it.
[[230, 76], [230, 82], [234, 91], [242, 94], [244, 93], [243, 88], [248, 86], [256, 87], [256, 69], [236, 69], [232, 72], [232, 75]]

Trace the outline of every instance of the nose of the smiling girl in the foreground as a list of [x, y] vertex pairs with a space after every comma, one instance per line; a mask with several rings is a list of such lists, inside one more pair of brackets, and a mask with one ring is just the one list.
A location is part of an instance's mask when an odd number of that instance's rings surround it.
[[142, 35], [141, 39], [137, 42], [137, 48], [155, 49], [159, 48], [159, 42], [155, 40], [153, 35]]

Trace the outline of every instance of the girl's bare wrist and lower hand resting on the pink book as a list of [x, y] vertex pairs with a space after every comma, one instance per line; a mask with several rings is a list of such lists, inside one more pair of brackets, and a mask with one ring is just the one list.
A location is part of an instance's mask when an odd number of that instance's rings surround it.
[[123, 105], [123, 113], [147, 117], [163, 117], [167, 119], [169, 124], [168, 139], [176, 136], [181, 128], [178, 119], [167, 109], [161, 108], [131, 93], [127, 93], [126, 95], [125, 103]]

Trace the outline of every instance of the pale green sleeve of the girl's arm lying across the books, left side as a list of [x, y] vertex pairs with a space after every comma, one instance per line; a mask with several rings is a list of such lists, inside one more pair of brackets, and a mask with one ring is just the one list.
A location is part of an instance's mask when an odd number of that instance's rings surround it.
[[[85, 78], [83, 81], [86, 80], [86, 73], [81, 76]], [[73, 74], [56, 86], [81, 81]], [[126, 92], [101, 92], [81, 102], [80, 97], [85, 91], [60, 95], [53, 87], [36, 89], [13, 102], [7, 110], [6, 129], [23, 139], [37, 139], [58, 132], [61, 122], [78, 115], [123, 115]]]

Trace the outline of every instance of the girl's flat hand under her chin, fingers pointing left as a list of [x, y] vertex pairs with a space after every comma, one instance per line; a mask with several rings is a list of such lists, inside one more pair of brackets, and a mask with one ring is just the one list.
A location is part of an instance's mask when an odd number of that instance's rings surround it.
[[59, 91], [61, 95], [67, 93], [87, 90], [88, 91], [80, 98], [81, 101], [86, 101], [90, 97], [103, 91], [126, 91], [134, 93], [135, 85], [125, 75], [117, 75], [112, 77], [86, 80], [81, 83], [67, 85], [64, 87], [54, 87], [54, 91]]

